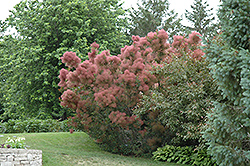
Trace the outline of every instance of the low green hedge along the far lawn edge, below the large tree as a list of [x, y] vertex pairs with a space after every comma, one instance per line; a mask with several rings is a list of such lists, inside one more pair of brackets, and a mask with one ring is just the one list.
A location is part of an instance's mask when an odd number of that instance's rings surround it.
[[52, 119], [39, 120], [9, 120], [0, 123], [1, 133], [34, 133], [34, 132], [68, 132], [68, 120], [57, 121]]

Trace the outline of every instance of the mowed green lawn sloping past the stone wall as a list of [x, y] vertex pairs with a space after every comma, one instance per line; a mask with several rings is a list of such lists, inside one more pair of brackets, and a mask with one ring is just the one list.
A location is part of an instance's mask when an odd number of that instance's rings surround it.
[[28, 149], [43, 151], [43, 166], [181, 166], [153, 161], [150, 158], [127, 157], [105, 152], [84, 132], [2, 135], [0, 143], [8, 136], [25, 137]]

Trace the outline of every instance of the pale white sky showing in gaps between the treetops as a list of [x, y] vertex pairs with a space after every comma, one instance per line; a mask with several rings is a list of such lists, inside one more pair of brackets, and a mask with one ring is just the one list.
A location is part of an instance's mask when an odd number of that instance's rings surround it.
[[[9, 10], [13, 9], [13, 6], [19, 3], [21, 0], [0, 0], [0, 20], [5, 20], [9, 13]], [[136, 7], [137, 0], [122, 0], [124, 1], [124, 8], [129, 8], [132, 6]], [[218, 9], [220, 0], [207, 0], [209, 6], [214, 8], [215, 10]], [[184, 15], [185, 9], [190, 11], [191, 5], [194, 3], [194, 0], [168, 0], [170, 3], [170, 9], [174, 9], [175, 12], [179, 13], [180, 15]], [[214, 11], [215, 11], [214, 10]], [[188, 22], [184, 20], [182, 22], [184, 25], [187, 25]]]

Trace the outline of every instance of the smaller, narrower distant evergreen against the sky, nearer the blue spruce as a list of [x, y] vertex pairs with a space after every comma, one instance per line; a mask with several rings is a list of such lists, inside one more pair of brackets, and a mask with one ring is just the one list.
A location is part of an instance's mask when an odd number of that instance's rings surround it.
[[209, 8], [207, 1], [194, 0], [191, 5], [192, 11], [186, 10], [185, 17], [191, 23], [191, 26], [185, 26], [187, 34], [190, 31], [199, 32], [205, 39], [213, 37], [218, 30], [218, 24], [214, 23], [213, 8]]

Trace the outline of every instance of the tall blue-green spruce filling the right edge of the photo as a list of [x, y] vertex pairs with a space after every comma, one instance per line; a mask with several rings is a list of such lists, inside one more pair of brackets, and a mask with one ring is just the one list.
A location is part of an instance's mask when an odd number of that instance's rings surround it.
[[250, 165], [250, 1], [222, 0], [222, 32], [206, 48], [223, 100], [214, 102], [204, 138], [220, 166]]

